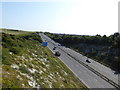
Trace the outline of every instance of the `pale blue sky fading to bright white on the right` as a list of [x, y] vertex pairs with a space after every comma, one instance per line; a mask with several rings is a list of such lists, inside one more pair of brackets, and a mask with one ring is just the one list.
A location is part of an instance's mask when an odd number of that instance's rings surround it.
[[38, 1], [3, 0], [0, 27], [79, 35], [118, 32], [120, 0]]

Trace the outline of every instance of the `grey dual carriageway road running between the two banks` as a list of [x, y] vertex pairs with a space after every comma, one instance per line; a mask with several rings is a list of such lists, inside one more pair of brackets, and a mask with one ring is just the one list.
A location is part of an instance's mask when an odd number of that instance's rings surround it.
[[[94, 60], [90, 59], [91, 63], [85, 62], [85, 56], [69, 49], [64, 46], [58, 46], [58, 43], [51, 40], [44, 34], [40, 34], [43, 41], [48, 42], [48, 48], [54, 53], [53, 48], [57, 46], [57, 50], [61, 53], [59, 57], [60, 60], [88, 87], [88, 88], [115, 88], [114, 85], [108, 83], [104, 78], [101, 78], [100, 75], [106, 76], [108, 79], [118, 83], [117, 75], [113, 73], [112, 70], [109, 68], [95, 62]], [[79, 62], [78, 62], [79, 61]], [[84, 64], [85, 65], [82, 65]], [[94, 71], [91, 70], [91, 67], [98, 71], [99, 73], [96, 74]]]

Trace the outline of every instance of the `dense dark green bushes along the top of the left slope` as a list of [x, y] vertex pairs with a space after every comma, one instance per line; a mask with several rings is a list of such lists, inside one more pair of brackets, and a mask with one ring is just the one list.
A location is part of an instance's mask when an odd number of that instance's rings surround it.
[[12, 56], [9, 52], [22, 55], [30, 43], [37, 41], [41, 43], [42, 40], [39, 35], [35, 33], [26, 33], [20, 35], [2, 33], [2, 63], [12, 64]]

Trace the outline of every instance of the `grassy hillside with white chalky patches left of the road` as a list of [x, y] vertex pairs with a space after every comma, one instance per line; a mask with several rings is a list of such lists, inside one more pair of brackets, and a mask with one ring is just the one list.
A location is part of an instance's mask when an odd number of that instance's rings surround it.
[[2, 88], [87, 87], [47, 48], [37, 33], [1, 31]]

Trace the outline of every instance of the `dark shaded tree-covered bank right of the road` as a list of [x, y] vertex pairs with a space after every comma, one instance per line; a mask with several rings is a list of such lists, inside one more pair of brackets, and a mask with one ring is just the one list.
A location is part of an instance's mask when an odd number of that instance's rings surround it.
[[59, 42], [77, 52], [114, 69], [120, 70], [120, 33], [110, 36], [88, 36], [52, 34], [45, 32], [54, 41]]

